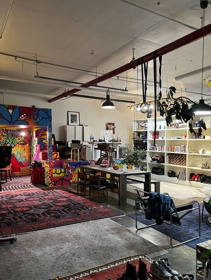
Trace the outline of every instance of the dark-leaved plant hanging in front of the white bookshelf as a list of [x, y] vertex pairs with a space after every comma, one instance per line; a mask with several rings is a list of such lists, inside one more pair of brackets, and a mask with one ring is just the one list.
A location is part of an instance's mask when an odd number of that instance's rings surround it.
[[[206, 130], [204, 118], [200, 119], [199, 121], [200, 127], [198, 128], [198, 132], [195, 132], [195, 130], [193, 129], [193, 120], [198, 104], [187, 97], [179, 96], [177, 98], [174, 98], [174, 94], [176, 93], [176, 88], [174, 86], [171, 86], [169, 89], [167, 89], [166, 93], [166, 101], [159, 101], [159, 112], [162, 117], [165, 116], [167, 126], [173, 123], [172, 116], [175, 115], [175, 118], [179, 121], [185, 123], [190, 121], [190, 133], [194, 133], [195, 137], [201, 137], [202, 128]], [[192, 103], [191, 106], [190, 103]]]

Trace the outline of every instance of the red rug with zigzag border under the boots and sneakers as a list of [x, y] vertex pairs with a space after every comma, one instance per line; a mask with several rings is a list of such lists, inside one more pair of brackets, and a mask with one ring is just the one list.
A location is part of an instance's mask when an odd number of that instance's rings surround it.
[[[63, 277], [55, 277], [54, 280], [107, 280], [109, 278], [116, 280], [118, 275], [122, 276], [122, 273], [126, 269], [126, 262], [130, 262], [133, 265], [136, 265], [138, 269], [139, 258], [142, 258], [142, 261], [146, 263], [146, 269], [149, 271], [151, 259], [144, 255], [138, 254], [129, 257], [121, 258], [120, 260], [115, 260], [98, 267], [93, 267], [84, 271], [79, 271]], [[153, 277], [155, 280], [158, 280], [156, 277]], [[53, 279], [49, 279], [53, 280]]]

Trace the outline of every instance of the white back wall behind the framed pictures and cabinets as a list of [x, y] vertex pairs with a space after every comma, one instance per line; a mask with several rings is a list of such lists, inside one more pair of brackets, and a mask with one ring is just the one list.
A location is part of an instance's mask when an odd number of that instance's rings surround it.
[[[3, 104], [2, 95], [0, 95], [0, 103]], [[40, 108], [52, 109], [52, 133], [55, 134], [56, 140], [64, 140], [62, 126], [67, 125], [67, 111], [75, 111], [80, 112], [80, 123], [90, 126], [90, 134], [94, 135], [95, 140], [99, 138], [99, 130], [105, 130], [106, 122], [114, 122], [115, 134], [118, 132], [119, 136], [122, 136], [121, 141], [132, 142], [134, 113], [128, 110], [127, 103], [115, 102], [115, 109], [102, 109], [100, 100], [71, 97], [64, 101], [48, 103], [46, 98], [32, 94], [20, 95], [18, 92], [17, 94], [4, 94], [4, 103], [26, 107], [36, 105]]]

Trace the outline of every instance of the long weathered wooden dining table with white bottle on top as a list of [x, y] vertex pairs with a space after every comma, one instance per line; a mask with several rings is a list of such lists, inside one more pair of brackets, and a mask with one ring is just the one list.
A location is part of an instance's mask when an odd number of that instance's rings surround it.
[[131, 175], [144, 175], [145, 177], [145, 184], [146, 184], [146, 192], [149, 192], [151, 187], [151, 172], [140, 171], [140, 170], [132, 170], [127, 169], [127, 173], [123, 173], [123, 171], [118, 170], [108, 170], [107, 167], [101, 167], [100, 165], [81, 165], [80, 170], [83, 172], [84, 169], [91, 169], [94, 171], [101, 172], [102, 176], [106, 176], [106, 174], [110, 174], [111, 180], [114, 177], [119, 178], [119, 206], [123, 206], [127, 204], [127, 181], [126, 177]]

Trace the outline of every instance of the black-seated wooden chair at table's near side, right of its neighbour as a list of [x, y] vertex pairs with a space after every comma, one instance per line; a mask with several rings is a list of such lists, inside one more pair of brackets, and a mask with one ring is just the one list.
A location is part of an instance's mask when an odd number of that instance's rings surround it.
[[112, 179], [112, 181], [116, 182], [116, 184], [113, 184], [109, 183], [107, 180], [110, 180], [110, 178], [101, 177], [99, 175], [89, 175], [89, 198], [91, 197], [91, 190], [97, 190], [99, 202], [100, 192], [106, 190], [108, 195], [108, 189], [117, 189], [119, 197], [118, 181], [116, 179]]

